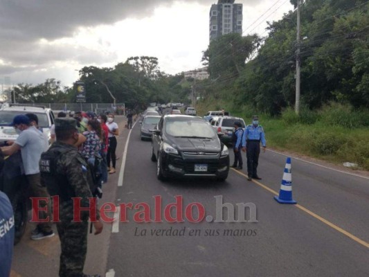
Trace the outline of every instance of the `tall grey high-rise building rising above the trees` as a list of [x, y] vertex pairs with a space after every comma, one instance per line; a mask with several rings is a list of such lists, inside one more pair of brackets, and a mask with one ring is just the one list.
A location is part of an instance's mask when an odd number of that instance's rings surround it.
[[218, 0], [211, 6], [209, 17], [210, 42], [228, 33], [242, 34], [242, 4], [235, 0]]

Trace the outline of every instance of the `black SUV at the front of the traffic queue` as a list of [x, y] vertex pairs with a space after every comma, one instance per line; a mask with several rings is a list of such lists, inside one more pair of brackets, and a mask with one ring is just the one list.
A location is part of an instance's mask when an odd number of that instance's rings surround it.
[[151, 152], [159, 180], [168, 177], [216, 177], [223, 181], [228, 177], [228, 148], [202, 118], [163, 116], [152, 130]]

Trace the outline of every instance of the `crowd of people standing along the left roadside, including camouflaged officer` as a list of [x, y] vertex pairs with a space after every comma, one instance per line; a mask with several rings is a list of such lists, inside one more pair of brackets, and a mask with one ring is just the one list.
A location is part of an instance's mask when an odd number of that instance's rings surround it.
[[[95, 197], [91, 193], [93, 174], [89, 169], [100, 171], [100, 185], [107, 182], [108, 173], [116, 172], [119, 129], [114, 122], [114, 114], [96, 116], [92, 112], [77, 112], [73, 118], [66, 118], [66, 114], [60, 112], [51, 127], [50, 147], [47, 136], [38, 128], [36, 114], [15, 116], [12, 126], [19, 136], [1, 148], [0, 156], [20, 152], [21, 172], [26, 176], [33, 197], [60, 197], [60, 221], [56, 224], [62, 247], [60, 276], [87, 276], [82, 271], [90, 215], [82, 212], [82, 222], [73, 222], [71, 198], [81, 197], [81, 206], [89, 207], [89, 198]], [[6, 199], [2, 194], [0, 197]], [[51, 205], [40, 201], [38, 206], [40, 221], [51, 218]], [[98, 211], [96, 213], [93, 226], [95, 234], [98, 234], [102, 231], [102, 223]], [[14, 221], [14, 217], [8, 220]], [[31, 239], [42, 240], [54, 235], [51, 222], [39, 222], [31, 232]]]

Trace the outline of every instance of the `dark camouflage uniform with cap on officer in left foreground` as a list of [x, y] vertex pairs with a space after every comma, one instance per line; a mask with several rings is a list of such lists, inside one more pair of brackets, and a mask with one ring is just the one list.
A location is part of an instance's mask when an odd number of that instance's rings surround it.
[[[55, 129], [58, 124], [72, 124], [60, 123], [59, 119], [55, 120]], [[75, 120], [73, 120], [75, 121]], [[74, 122], [75, 126], [75, 122]], [[42, 173], [42, 181], [46, 183], [48, 191], [51, 196], [55, 195], [55, 184], [58, 184], [57, 179], [65, 178], [67, 184], [61, 188], [60, 195], [60, 222], [57, 222], [57, 233], [60, 237], [60, 244], [62, 253], [60, 254], [60, 277], [81, 277], [83, 274], [84, 260], [87, 253], [87, 231], [89, 211], [81, 212], [82, 222], [73, 222], [73, 201], [71, 197], [82, 197], [80, 206], [89, 207], [89, 197], [92, 197], [89, 188], [89, 171], [87, 171], [87, 163], [84, 161], [77, 148], [73, 145], [55, 141], [51, 148], [47, 151], [52, 154], [60, 154], [55, 161], [56, 169], [50, 168], [50, 175], [55, 178], [54, 183], [52, 179], [44, 178]], [[47, 153], [46, 152], [46, 153]], [[44, 154], [40, 161], [41, 172], [45, 172], [42, 166]], [[53, 172], [56, 171], [56, 172]], [[66, 192], [67, 190], [67, 192]], [[66, 197], [66, 195], [69, 195]], [[69, 199], [68, 199], [69, 198]], [[100, 215], [98, 214], [98, 218]]]

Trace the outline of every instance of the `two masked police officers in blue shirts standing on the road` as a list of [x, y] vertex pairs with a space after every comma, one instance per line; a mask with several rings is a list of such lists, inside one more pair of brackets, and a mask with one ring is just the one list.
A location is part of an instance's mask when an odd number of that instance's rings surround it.
[[247, 125], [244, 129], [242, 129], [242, 123], [240, 121], [235, 121], [234, 127], [235, 131], [232, 134], [232, 143], [235, 160], [231, 167], [242, 170], [243, 161], [241, 151], [246, 152], [247, 179], [249, 181], [252, 179], [260, 180], [261, 178], [258, 176], [260, 143], [265, 152], [267, 141], [265, 140], [264, 129], [259, 125], [259, 116], [253, 116], [252, 124]]

